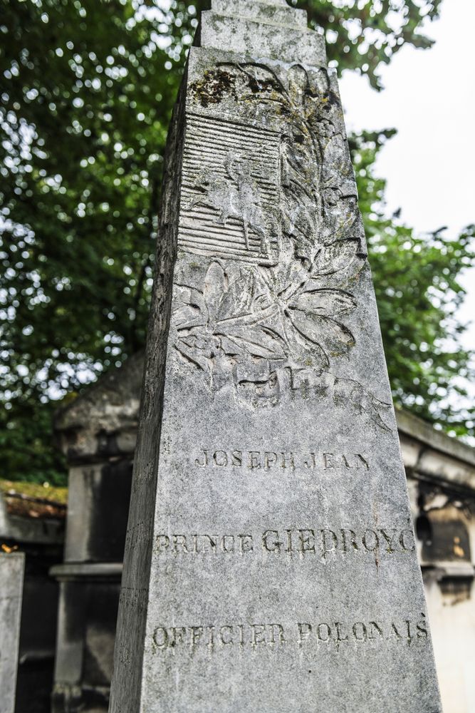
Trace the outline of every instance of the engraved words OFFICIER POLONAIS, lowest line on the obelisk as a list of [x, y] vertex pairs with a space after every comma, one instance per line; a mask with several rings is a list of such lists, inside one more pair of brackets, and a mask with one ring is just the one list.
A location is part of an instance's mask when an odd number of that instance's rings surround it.
[[157, 626], [152, 634], [154, 652], [179, 649], [193, 652], [199, 648], [212, 652], [229, 647], [254, 650], [276, 649], [282, 646], [320, 648], [320, 644], [335, 645], [337, 650], [344, 644], [370, 644], [378, 642], [426, 642], [428, 638], [425, 615], [414, 621], [367, 620], [367, 621], [322, 621], [297, 622], [294, 625], [281, 623], [222, 623], [194, 626]]

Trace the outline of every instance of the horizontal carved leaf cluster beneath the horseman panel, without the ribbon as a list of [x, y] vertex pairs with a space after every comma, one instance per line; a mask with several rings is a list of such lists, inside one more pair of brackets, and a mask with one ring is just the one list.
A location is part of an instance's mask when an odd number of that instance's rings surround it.
[[[300, 277], [300, 279], [296, 279]], [[356, 307], [342, 289], [316, 287], [305, 270], [209, 265], [203, 290], [176, 286], [176, 347], [211, 373], [221, 352], [241, 364], [253, 357], [328, 369], [355, 344], [339, 321]]]

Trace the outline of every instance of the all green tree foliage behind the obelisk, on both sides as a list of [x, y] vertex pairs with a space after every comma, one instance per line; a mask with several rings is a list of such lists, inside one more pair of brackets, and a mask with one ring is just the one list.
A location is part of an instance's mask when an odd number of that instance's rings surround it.
[[[375, 88], [378, 66], [404, 43], [430, 46], [419, 31], [439, 4], [297, 3], [325, 28], [331, 63]], [[0, 444], [10, 478], [61, 481], [57, 399], [144, 343], [167, 125], [204, 6], [0, 0]], [[466, 354], [444, 344], [459, 329], [444, 285], [456, 304], [468, 236], [422, 239], [385, 216], [384, 182], [372, 175], [379, 145], [366, 136], [353, 148], [395, 397], [462, 432], [439, 389], [466, 369]]]

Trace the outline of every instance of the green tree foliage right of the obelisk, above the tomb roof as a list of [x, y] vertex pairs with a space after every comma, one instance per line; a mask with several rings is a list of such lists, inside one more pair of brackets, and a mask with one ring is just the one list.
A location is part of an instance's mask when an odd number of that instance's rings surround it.
[[387, 216], [386, 182], [375, 177], [374, 164], [394, 133], [350, 140], [393, 397], [451, 433], [473, 434], [473, 411], [459, 405], [473, 355], [461, 348], [457, 314], [465, 294], [459, 275], [474, 260], [475, 225], [456, 238], [443, 228], [417, 235], [397, 214]]

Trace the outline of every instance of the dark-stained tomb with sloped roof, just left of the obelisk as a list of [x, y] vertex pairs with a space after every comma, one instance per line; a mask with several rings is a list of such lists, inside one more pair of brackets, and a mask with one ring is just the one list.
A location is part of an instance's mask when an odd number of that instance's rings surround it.
[[112, 369], [58, 411], [68, 459], [53, 713], [107, 710], [143, 355]]

